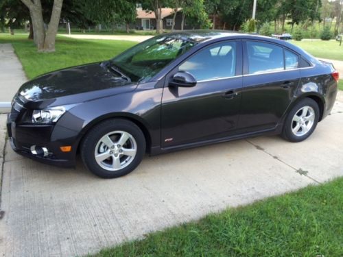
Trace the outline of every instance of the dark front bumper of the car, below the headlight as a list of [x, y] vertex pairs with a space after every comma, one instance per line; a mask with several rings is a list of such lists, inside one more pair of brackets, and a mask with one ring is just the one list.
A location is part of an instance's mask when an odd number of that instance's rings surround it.
[[[10, 114], [8, 114], [7, 130], [10, 145], [17, 154], [58, 167], [75, 167], [75, 149], [72, 147], [73, 151], [68, 153], [60, 151], [61, 146], [70, 144], [73, 136], [65, 135], [67, 139], [55, 136], [56, 133], [61, 134], [63, 128], [56, 125], [18, 125], [10, 119]], [[51, 140], [51, 138], [56, 140]], [[30, 151], [32, 145], [46, 147], [49, 155], [43, 157], [32, 154]]]

